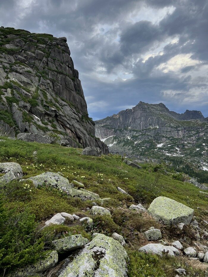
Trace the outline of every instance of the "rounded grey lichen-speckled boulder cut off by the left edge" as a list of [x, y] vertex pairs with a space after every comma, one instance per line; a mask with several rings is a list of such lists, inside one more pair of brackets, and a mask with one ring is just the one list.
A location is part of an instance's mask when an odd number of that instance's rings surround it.
[[0, 181], [12, 181], [14, 179], [21, 179], [23, 172], [20, 164], [16, 162], [4, 162], [0, 163], [0, 173], [5, 175], [0, 177]]

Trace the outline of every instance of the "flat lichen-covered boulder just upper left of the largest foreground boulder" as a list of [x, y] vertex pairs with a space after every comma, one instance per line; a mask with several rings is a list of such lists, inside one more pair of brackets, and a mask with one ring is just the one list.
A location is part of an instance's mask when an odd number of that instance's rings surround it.
[[72, 251], [82, 246], [86, 245], [89, 242], [87, 238], [83, 238], [82, 235], [72, 235], [66, 238], [60, 238], [59, 240], [53, 240], [53, 248], [58, 252], [67, 252]]

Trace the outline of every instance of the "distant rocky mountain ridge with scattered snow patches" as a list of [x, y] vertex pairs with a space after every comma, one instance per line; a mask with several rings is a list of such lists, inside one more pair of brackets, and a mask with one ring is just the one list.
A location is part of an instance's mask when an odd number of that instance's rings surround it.
[[110, 152], [139, 158], [181, 157], [208, 170], [208, 122], [200, 111], [178, 114], [160, 104], [139, 102], [132, 109], [95, 121], [95, 135]]

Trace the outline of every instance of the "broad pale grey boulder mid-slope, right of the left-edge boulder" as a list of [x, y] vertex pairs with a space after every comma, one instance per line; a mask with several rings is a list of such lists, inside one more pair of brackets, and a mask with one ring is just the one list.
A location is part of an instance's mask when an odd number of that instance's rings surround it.
[[40, 175], [29, 177], [26, 180], [32, 180], [35, 187], [45, 184], [63, 191], [69, 191], [73, 188], [73, 185], [69, 183], [67, 178], [64, 178], [63, 176], [53, 172], [44, 172]]

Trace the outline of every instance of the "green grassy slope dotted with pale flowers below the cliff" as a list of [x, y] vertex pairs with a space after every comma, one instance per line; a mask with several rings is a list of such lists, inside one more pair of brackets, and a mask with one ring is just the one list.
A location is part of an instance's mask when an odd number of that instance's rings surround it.
[[[111, 209], [114, 222], [107, 218], [94, 217], [94, 232], [102, 231], [107, 235], [112, 232], [120, 232], [132, 245], [130, 251], [147, 243], [144, 235], [140, 232], [151, 226], [160, 227], [163, 231], [163, 238], [167, 241], [173, 237], [170, 231], [159, 226], [150, 217], [129, 212], [127, 207], [134, 203], [133, 198], [143, 201], [143, 204], [148, 207], [149, 203], [157, 196], [170, 197], [193, 208], [196, 216], [206, 218], [207, 198], [204, 194], [199, 193], [197, 187], [190, 183], [174, 180], [168, 175], [158, 175], [158, 172], [153, 172], [150, 164], [143, 164], [143, 168], [138, 170], [124, 164], [122, 157], [118, 155], [83, 156], [81, 155], [82, 149], [78, 148], [26, 143], [5, 137], [0, 137], [0, 139], [6, 140], [0, 142], [0, 162], [21, 164], [23, 178], [46, 171], [60, 171], [69, 181], [75, 179], [84, 183], [86, 189], [98, 193], [101, 198], [111, 197], [111, 200], [103, 206]], [[36, 155], [33, 154], [34, 151], [37, 151]], [[159, 181], [156, 181], [158, 177], [160, 177]], [[154, 186], [152, 183], [155, 183]], [[9, 207], [16, 207], [19, 211], [29, 207], [37, 221], [44, 221], [53, 214], [63, 211], [80, 216], [90, 215], [89, 211], [83, 212], [87, 207], [92, 207], [90, 201], [83, 202], [66, 197], [61, 191], [55, 189], [36, 189], [32, 184], [30, 185], [31, 192], [28, 191], [25, 195], [21, 193], [21, 189], [16, 189], [16, 186], [12, 185], [8, 188]], [[116, 189], [117, 186], [125, 189], [133, 198], [120, 193]], [[100, 204], [99, 201], [96, 202]], [[118, 207], [120, 208], [117, 209]], [[132, 255], [132, 261], [140, 259], [135, 257], [138, 254]], [[130, 276], [140, 276], [135, 274], [134, 267], [133, 262], [132, 265], [130, 264], [132, 272]]]

